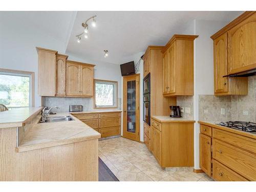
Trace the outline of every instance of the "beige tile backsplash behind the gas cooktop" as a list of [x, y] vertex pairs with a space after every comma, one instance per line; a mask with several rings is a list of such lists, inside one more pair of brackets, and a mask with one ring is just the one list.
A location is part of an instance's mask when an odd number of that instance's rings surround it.
[[256, 122], [256, 76], [248, 77], [248, 95], [200, 95], [199, 120]]

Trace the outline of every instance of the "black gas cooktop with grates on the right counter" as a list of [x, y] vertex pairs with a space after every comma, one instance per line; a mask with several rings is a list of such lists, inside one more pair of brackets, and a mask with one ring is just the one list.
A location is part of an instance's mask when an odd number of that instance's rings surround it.
[[227, 121], [217, 123], [218, 125], [230, 127], [235, 130], [256, 134], [256, 123], [243, 121]]

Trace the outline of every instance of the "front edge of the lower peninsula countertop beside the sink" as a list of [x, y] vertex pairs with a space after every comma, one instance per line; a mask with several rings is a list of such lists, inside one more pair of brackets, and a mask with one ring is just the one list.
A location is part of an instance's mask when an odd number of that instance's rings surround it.
[[97, 135], [87, 136], [87, 137], [70, 138], [70, 139], [56, 140], [56, 141], [51, 141], [46, 143], [37, 143], [33, 145], [18, 146], [18, 147], [15, 147], [15, 152], [17, 153], [27, 152], [32, 150], [39, 150], [41, 148], [48, 148], [53, 146], [77, 143], [81, 141], [89, 141], [89, 140], [100, 139], [100, 138], [101, 138], [101, 135], [97, 134]]

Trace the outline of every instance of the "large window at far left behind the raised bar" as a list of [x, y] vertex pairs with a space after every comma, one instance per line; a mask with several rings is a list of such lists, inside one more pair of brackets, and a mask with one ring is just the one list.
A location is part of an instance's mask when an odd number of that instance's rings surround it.
[[0, 104], [8, 109], [34, 106], [34, 73], [0, 69]]

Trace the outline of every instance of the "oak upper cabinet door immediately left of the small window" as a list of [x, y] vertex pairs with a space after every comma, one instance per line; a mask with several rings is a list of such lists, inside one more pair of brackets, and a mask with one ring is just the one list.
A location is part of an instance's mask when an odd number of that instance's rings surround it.
[[93, 67], [80, 66], [81, 70], [81, 96], [93, 96]]

